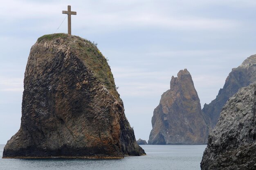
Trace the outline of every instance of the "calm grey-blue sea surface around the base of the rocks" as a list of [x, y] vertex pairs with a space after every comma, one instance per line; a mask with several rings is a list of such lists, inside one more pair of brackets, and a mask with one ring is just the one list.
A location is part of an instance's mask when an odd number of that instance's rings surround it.
[[207, 145], [141, 145], [147, 153], [120, 160], [2, 159], [0, 170], [200, 170]]

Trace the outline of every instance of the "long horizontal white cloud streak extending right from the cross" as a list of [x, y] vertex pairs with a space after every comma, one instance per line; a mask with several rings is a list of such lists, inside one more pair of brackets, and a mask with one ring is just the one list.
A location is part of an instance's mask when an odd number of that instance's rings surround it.
[[[82, 16], [82, 17], [81, 17]], [[182, 29], [182, 30], [223, 30], [239, 27], [236, 20], [215, 19], [193, 16], [166, 16], [152, 11], [127, 11], [127, 13], [81, 13], [74, 18], [76, 25], [90, 31], [114, 31], [120, 29]], [[84, 17], [85, 16], [85, 17]], [[84, 19], [82, 19], [84, 17]], [[78, 22], [84, 20], [86, 22]], [[93, 29], [94, 28], [94, 29]]]

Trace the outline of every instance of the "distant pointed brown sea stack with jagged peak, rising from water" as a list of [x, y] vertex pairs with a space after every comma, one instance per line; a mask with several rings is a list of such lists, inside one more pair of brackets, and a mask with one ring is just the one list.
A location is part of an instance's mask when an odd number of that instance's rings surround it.
[[204, 144], [208, 129], [200, 100], [187, 69], [171, 78], [170, 89], [162, 94], [152, 117], [148, 144]]

